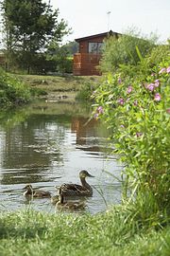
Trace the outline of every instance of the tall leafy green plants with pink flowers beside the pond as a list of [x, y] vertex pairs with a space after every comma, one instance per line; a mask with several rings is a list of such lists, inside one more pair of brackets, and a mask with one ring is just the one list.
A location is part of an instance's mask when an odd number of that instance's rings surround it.
[[137, 66], [122, 65], [100, 84], [94, 115], [112, 130], [136, 216], [157, 226], [170, 213], [170, 56], [152, 67], [150, 57], [140, 58]]

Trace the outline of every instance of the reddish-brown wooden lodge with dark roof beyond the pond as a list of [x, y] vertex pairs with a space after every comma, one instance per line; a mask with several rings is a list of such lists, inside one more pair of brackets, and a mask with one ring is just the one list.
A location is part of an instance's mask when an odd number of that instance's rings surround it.
[[73, 74], [75, 76], [101, 75], [97, 66], [101, 59], [104, 39], [110, 35], [118, 38], [120, 34], [110, 30], [110, 32], [76, 39], [79, 44], [79, 52], [74, 54]]

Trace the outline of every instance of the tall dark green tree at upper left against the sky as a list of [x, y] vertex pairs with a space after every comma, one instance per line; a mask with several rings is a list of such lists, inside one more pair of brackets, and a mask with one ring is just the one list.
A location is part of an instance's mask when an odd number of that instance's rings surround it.
[[9, 65], [30, 69], [50, 42], [60, 42], [69, 32], [59, 18], [59, 9], [52, 10], [50, 2], [42, 0], [4, 0], [4, 33]]

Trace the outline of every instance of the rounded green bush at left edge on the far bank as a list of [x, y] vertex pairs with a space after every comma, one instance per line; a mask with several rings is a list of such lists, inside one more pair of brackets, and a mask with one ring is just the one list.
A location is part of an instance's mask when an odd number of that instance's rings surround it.
[[30, 100], [30, 90], [25, 83], [0, 69], [0, 105], [21, 105]]

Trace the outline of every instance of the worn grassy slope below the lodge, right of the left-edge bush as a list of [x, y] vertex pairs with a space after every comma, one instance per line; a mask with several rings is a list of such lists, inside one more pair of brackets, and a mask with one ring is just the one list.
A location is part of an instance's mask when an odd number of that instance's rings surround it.
[[[38, 76], [38, 75], [18, 75], [22, 82], [26, 82], [39, 96], [47, 100], [63, 99], [75, 100], [78, 94], [83, 91], [83, 97], [89, 88], [97, 82], [99, 77], [78, 77], [78, 76]], [[80, 96], [81, 98], [81, 96]], [[86, 98], [86, 97], [85, 97]], [[62, 99], [62, 100], [63, 100]]]

